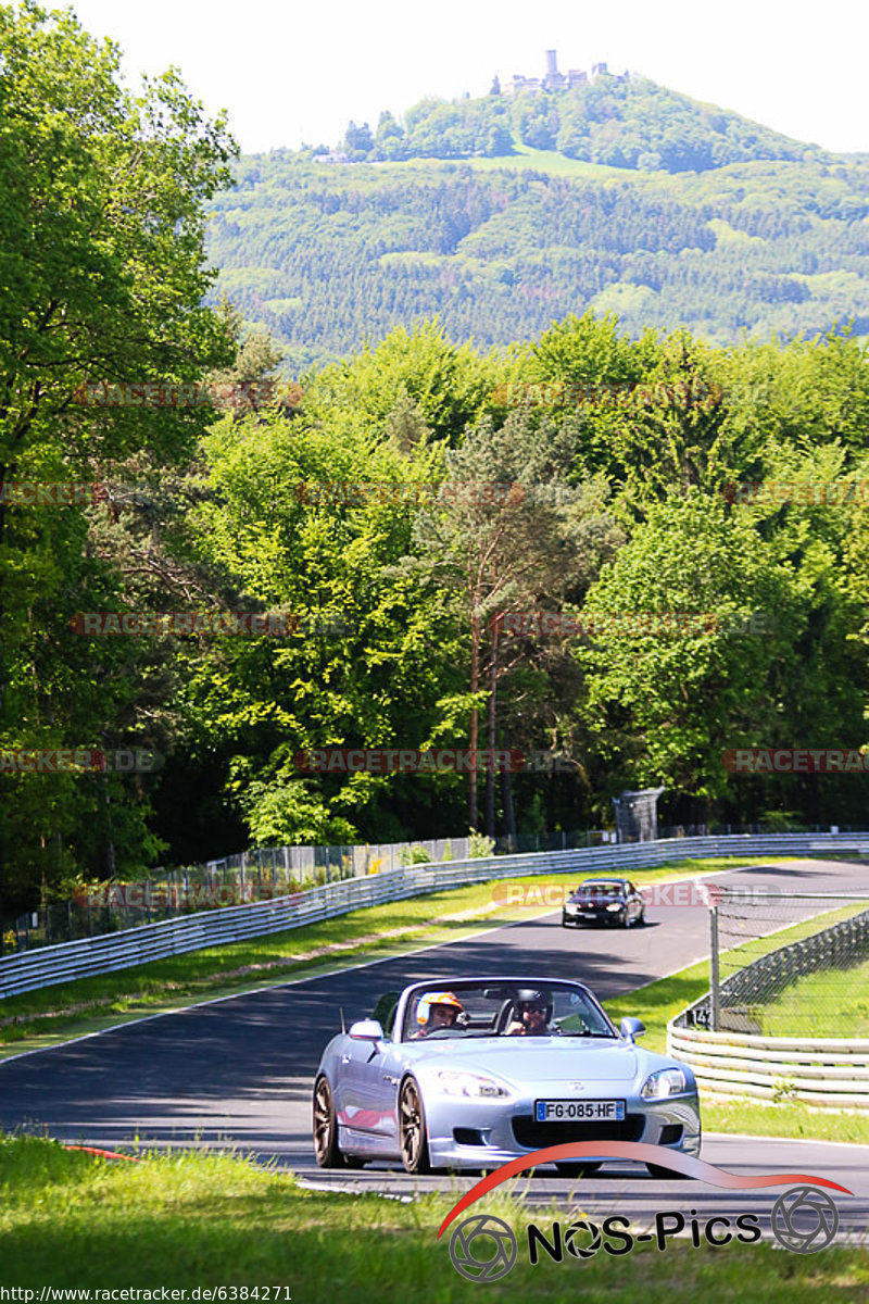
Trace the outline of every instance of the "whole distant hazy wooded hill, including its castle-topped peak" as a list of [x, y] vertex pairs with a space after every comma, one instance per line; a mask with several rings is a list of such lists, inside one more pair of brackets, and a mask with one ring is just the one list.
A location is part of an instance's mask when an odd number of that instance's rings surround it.
[[[547, 104], [548, 138], [534, 125]], [[847, 319], [869, 334], [865, 155], [826, 155], [651, 82], [603, 78], [425, 102], [403, 124], [384, 115], [369, 138], [357, 163], [242, 158], [237, 188], [211, 203], [215, 295], [266, 326], [293, 372], [434, 314], [481, 346], [588, 308], [618, 312], [632, 335], [684, 323], [720, 344]], [[477, 153], [481, 141], [506, 153]], [[472, 156], [397, 156], [447, 147]]]

